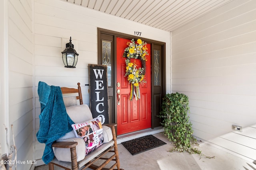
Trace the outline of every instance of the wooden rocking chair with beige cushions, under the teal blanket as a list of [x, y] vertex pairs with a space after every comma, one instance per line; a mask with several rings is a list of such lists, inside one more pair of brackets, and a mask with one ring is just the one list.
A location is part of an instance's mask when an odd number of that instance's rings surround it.
[[[62, 91], [62, 94], [78, 93], [78, 96], [75, 96], [75, 102], [74, 101], [70, 102], [69, 97], [67, 97], [67, 98], [64, 97], [64, 103], [66, 106], [66, 110], [71, 119], [72, 119], [72, 115], [70, 115], [70, 114], [72, 114], [72, 111], [68, 111], [68, 110], [75, 108], [75, 111], [76, 111], [78, 109], [77, 106], [72, 106], [74, 103], [75, 103], [74, 105], [76, 105], [76, 100], [80, 101], [80, 107], [82, 105], [83, 109], [85, 108], [85, 110], [82, 111], [83, 112], [82, 114], [85, 115], [85, 119], [89, 120], [90, 118], [92, 118], [92, 113], [90, 112], [89, 107], [87, 105], [83, 105], [80, 83], [78, 83], [77, 89], [62, 87], [61, 91]], [[75, 111], [73, 111], [73, 112], [75, 112]], [[71, 112], [71, 113], [69, 113], [69, 112]], [[80, 114], [80, 113], [78, 113], [78, 114]], [[81, 114], [79, 116], [81, 116]], [[80, 119], [82, 120], [81, 117], [79, 117], [79, 120]], [[86, 120], [86, 121], [88, 121], [88, 120]], [[75, 122], [75, 120], [73, 120], [73, 121]], [[78, 122], [75, 122], [75, 123], [78, 123]], [[60, 139], [60, 140], [54, 142], [52, 147], [54, 147], [55, 156], [58, 157], [57, 156], [57, 154], [58, 154], [59, 157], [68, 156], [70, 158], [68, 158], [68, 161], [61, 161], [55, 157], [49, 163], [49, 169], [54, 170], [54, 165], [56, 165], [56, 166], [66, 169], [66, 170], [78, 170], [80, 168], [82, 168], [82, 170], [85, 170], [88, 167], [91, 169], [96, 169], [96, 170], [101, 170], [101, 169], [113, 170], [116, 167], [118, 170], [122, 170], [122, 169], [120, 169], [120, 161], [119, 161], [119, 157], [118, 157], [118, 147], [117, 147], [117, 142], [116, 142], [116, 131], [115, 131], [116, 124], [108, 124], [105, 126], [104, 125], [102, 125], [102, 127], [105, 127], [106, 131], [110, 132], [109, 136], [111, 138], [106, 140], [107, 143], [105, 142], [105, 138], [104, 138], [104, 143], [100, 147], [95, 149], [94, 151], [87, 154], [82, 160], [77, 160], [79, 157], [77, 155], [78, 151], [81, 151], [81, 149], [77, 149], [78, 145], [85, 145], [84, 143], [81, 144], [81, 140], [80, 140], [81, 138]], [[106, 126], [108, 126], [108, 127], [106, 127]], [[103, 133], [104, 133], [104, 131], [103, 131]], [[83, 139], [82, 139], [82, 141], [84, 142]], [[82, 151], [85, 152], [85, 150], [82, 150]], [[66, 160], [66, 158], [64, 160]], [[96, 166], [95, 163], [99, 162], [99, 160], [104, 160], [104, 162], [102, 163], [102, 161], [101, 161], [100, 164], [97, 163], [97, 166]], [[115, 161], [114, 163], [110, 164], [111, 167], [104, 168], [111, 161], [112, 162]]]

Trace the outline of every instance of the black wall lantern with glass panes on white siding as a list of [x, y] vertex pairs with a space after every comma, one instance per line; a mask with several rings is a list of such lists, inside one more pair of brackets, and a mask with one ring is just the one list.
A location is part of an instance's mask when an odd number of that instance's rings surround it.
[[71, 37], [69, 43], [66, 43], [66, 49], [62, 51], [62, 59], [65, 67], [67, 68], [76, 68], [76, 63], [78, 60], [78, 53], [74, 49], [74, 45], [71, 43]]

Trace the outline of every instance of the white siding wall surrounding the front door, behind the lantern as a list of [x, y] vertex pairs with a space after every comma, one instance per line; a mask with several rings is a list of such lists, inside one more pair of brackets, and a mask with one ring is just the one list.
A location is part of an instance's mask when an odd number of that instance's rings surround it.
[[[140, 31], [142, 40], [145, 37], [165, 42], [166, 56], [170, 56], [170, 32], [60, 0], [35, 0], [35, 133], [39, 129], [39, 81], [72, 88], [76, 88], [77, 82], [80, 82], [84, 104], [90, 103], [88, 86], [85, 84], [89, 84], [88, 64], [98, 63], [98, 27], [130, 35], [134, 35], [134, 31]], [[74, 49], [79, 54], [76, 68], [64, 68], [62, 61], [61, 52], [70, 36]], [[167, 57], [166, 62], [167, 90], [170, 92], [170, 57]], [[36, 166], [43, 164], [40, 160], [43, 151], [44, 144], [36, 140]]]

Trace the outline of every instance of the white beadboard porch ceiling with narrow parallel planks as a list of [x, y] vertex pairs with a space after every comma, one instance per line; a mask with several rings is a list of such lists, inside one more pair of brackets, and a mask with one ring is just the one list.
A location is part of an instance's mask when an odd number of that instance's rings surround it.
[[232, 0], [63, 0], [174, 31]]

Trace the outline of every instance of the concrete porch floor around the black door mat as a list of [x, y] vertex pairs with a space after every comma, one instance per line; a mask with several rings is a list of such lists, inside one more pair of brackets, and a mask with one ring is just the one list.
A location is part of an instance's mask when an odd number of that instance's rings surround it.
[[[121, 168], [124, 170], [256, 170], [256, 165], [250, 160], [203, 142], [199, 143], [198, 148], [202, 150], [203, 154], [215, 156], [215, 158], [209, 159], [186, 152], [168, 152], [174, 146], [172, 142], [163, 133], [157, 133], [154, 136], [167, 145], [132, 156], [122, 144], [119, 144]], [[57, 166], [54, 168], [62, 170]], [[48, 170], [48, 166], [38, 166], [35, 170]], [[90, 169], [88, 168], [88, 170]]]

